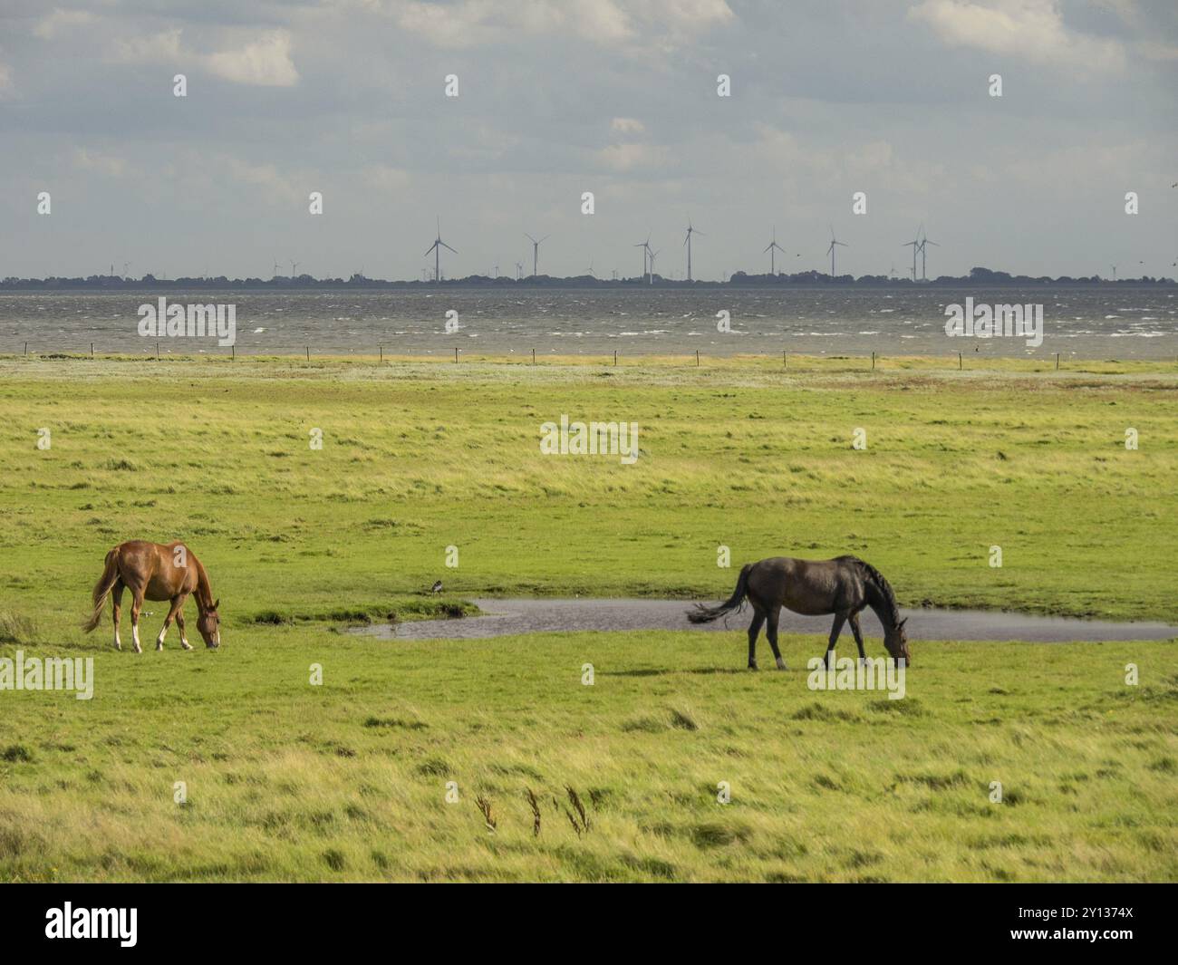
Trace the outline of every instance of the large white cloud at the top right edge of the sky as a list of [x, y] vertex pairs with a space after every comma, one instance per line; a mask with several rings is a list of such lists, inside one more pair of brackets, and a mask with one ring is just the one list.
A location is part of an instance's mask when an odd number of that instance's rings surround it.
[[908, 18], [952, 47], [1100, 71], [1125, 66], [1119, 42], [1070, 29], [1057, 0], [921, 0]]

